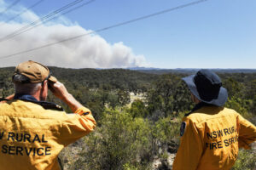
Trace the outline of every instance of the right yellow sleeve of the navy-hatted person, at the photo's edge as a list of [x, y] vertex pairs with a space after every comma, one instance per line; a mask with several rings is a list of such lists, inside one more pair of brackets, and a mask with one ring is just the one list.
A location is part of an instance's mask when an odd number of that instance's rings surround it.
[[239, 148], [251, 149], [250, 145], [256, 141], [256, 127], [253, 123], [248, 122], [241, 115], [238, 114], [236, 117], [237, 127], [238, 127], [238, 144]]

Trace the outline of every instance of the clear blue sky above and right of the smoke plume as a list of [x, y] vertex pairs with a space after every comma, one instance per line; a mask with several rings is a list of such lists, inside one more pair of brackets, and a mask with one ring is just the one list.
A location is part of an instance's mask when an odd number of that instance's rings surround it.
[[[15, 0], [4, 1], [5, 5], [13, 2]], [[13, 9], [26, 8], [35, 2], [21, 0]], [[41, 17], [71, 2], [73, 1], [44, 0], [36, 8], [32, 8], [32, 13]], [[96, 0], [94, 3], [63, 16], [65, 20], [68, 20], [67, 23], [58, 20], [55, 22], [67, 26], [72, 23], [71, 25], [81, 26], [87, 31], [94, 31], [191, 2], [193, 1]], [[255, 69], [255, 8], [256, 1], [254, 0], [208, 0], [126, 26], [99, 32], [98, 36], [108, 42], [109, 46], [122, 42], [123, 46], [131, 49], [132, 59], [143, 56], [145, 60], [141, 65], [122, 65], [122, 59], [119, 59], [118, 64], [102, 67], [119, 67], [120, 65], [120, 67]], [[3, 14], [0, 20], [4, 22], [9, 17], [11, 14]], [[44, 34], [44, 32], [41, 33]], [[97, 48], [97, 50], [101, 49]], [[11, 65], [10, 62], [7, 65]], [[54, 61], [49, 65], [55, 65]], [[68, 65], [63, 66], [68, 67]], [[101, 67], [101, 65], [84, 65], [84, 67]]]

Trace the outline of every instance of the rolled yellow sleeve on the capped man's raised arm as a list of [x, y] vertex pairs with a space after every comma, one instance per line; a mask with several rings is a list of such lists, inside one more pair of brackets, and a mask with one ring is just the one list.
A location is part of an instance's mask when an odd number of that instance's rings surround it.
[[93, 131], [96, 121], [86, 107], [81, 107], [74, 114], [67, 114], [61, 123], [59, 143], [67, 146]]

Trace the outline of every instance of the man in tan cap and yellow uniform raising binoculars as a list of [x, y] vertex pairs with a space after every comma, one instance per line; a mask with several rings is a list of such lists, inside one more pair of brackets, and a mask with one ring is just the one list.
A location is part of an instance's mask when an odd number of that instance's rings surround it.
[[[89, 109], [34, 61], [18, 65], [13, 76], [15, 95], [0, 104], [0, 169], [57, 170], [60, 151], [96, 127]], [[48, 88], [73, 111], [46, 102]]]

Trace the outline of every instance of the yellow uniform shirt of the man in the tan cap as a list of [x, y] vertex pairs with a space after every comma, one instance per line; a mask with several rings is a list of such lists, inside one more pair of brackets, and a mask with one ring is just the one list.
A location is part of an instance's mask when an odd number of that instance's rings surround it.
[[96, 121], [85, 107], [67, 114], [19, 99], [2, 103], [0, 169], [60, 169], [57, 161], [60, 151], [94, 127]]

